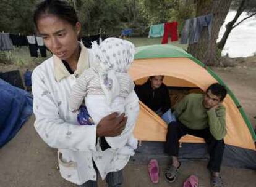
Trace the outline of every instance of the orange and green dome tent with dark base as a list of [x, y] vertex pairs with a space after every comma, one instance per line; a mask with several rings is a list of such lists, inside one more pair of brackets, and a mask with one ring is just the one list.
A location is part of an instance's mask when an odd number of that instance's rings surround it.
[[[137, 47], [135, 60], [130, 67], [129, 74], [136, 84], [147, 81], [149, 76], [164, 75], [164, 84], [170, 89], [186, 88], [203, 92], [215, 82], [225, 85], [211, 68], [179, 47], [169, 44]], [[227, 134], [224, 137], [226, 148], [223, 164], [255, 169], [255, 132], [244, 109], [229, 89], [223, 105], [226, 108], [227, 129]], [[150, 154], [168, 159], [163, 153], [166, 132], [167, 124], [140, 102], [140, 114], [134, 134], [138, 140], [143, 141], [142, 146], [137, 150], [140, 154], [144, 154], [142, 159], [147, 159], [147, 156], [151, 157]], [[207, 151], [205, 151], [206, 146], [202, 138], [186, 135], [180, 141], [182, 143], [180, 157], [184, 159], [205, 158]], [[140, 154], [135, 154], [135, 158], [139, 158]]]

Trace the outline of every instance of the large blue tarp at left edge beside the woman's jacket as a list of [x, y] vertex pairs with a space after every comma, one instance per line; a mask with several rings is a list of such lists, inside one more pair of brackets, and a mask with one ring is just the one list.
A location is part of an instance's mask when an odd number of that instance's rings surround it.
[[4, 146], [33, 113], [33, 99], [25, 90], [0, 79], [0, 148]]

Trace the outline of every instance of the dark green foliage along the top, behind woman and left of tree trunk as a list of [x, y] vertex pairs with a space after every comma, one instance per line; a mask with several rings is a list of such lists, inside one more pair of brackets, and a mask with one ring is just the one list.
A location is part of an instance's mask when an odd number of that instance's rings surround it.
[[[1, 0], [0, 31], [32, 34], [33, 10], [41, 0]], [[194, 15], [192, 0], [67, 0], [75, 7], [82, 23], [82, 35], [105, 32], [119, 36], [126, 28], [133, 28], [137, 36], [148, 34], [150, 25]]]

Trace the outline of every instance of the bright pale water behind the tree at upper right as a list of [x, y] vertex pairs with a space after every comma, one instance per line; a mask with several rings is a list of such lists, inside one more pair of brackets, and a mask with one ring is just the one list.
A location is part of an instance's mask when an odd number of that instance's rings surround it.
[[[228, 13], [225, 23], [221, 26], [218, 41], [224, 34], [225, 25], [233, 20], [236, 15], [235, 11]], [[247, 17], [246, 13], [243, 12], [237, 23], [243, 18]], [[222, 51], [222, 55], [228, 53], [229, 57], [248, 57], [256, 54], [256, 17], [250, 17], [244, 22], [240, 23], [234, 28], [228, 36], [228, 40]]]

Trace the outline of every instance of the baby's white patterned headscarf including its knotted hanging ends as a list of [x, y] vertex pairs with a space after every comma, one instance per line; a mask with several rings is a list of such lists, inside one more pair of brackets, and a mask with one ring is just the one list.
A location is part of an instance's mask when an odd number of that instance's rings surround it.
[[[107, 38], [101, 42], [100, 46], [93, 42], [92, 51], [96, 57], [95, 66], [100, 75], [100, 84], [107, 103], [110, 105], [113, 98], [120, 92], [132, 92], [134, 82], [127, 74], [127, 70], [134, 60], [134, 44], [120, 38]], [[117, 76], [129, 79], [129, 85], [122, 87]]]

